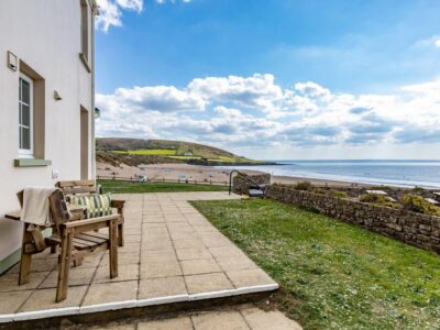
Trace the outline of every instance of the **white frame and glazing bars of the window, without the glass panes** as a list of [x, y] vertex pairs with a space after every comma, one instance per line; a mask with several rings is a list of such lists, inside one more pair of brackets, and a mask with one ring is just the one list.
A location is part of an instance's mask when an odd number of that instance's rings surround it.
[[[24, 103], [22, 101], [22, 97], [21, 96], [21, 80], [26, 81], [29, 84], [29, 136], [30, 136], [30, 148], [21, 148], [20, 147], [20, 141], [22, 139], [22, 132], [21, 132], [21, 128], [25, 125], [23, 125], [20, 122], [20, 116], [21, 116], [21, 106]], [[24, 103], [26, 105], [26, 103]], [[34, 80], [29, 77], [28, 75], [20, 73], [20, 78], [19, 78], [19, 156], [21, 158], [33, 158], [34, 157]]]

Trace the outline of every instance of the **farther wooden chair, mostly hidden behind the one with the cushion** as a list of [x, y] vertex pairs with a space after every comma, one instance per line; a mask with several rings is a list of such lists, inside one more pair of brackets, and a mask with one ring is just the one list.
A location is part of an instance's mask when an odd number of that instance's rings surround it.
[[[68, 182], [58, 182], [56, 183], [56, 187], [63, 190], [65, 195], [76, 195], [76, 194], [99, 194], [99, 189], [96, 186], [94, 180], [68, 180]], [[111, 207], [118, 210], [118, 213], [121, 216], [118, 222], [118, 242], [119, 246], [123, 246], [123, 208], [124, 200], [111, 200]]]

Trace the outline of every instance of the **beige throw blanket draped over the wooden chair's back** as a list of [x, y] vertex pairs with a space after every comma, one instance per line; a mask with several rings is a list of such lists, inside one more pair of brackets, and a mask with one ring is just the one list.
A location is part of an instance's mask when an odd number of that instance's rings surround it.
[[48, 197], [56, 188], [28, 187], [23, 190], [21, 221], [36, 226], [51, 227]]

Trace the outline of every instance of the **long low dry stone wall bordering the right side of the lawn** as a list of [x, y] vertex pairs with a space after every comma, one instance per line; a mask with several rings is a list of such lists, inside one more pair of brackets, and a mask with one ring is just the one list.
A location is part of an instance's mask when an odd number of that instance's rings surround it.
[[440, 217], [340, 199], [280, 185], [267, 186], [266, 196], [440, 253]]

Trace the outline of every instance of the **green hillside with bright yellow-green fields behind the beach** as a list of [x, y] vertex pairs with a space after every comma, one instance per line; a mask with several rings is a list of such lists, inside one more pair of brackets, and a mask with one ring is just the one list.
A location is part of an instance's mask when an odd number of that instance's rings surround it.
[[110, 164], [264, 164], [218, 147], [184, 141], [101, 138], [96, 140], [96, 148], [97, 160]]

